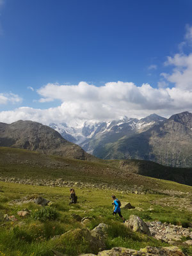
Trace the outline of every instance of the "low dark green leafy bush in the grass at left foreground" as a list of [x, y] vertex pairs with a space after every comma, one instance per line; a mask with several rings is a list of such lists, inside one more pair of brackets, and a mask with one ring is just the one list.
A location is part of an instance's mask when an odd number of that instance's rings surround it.
[[45, 206], [39, 210], [33, 211], [31, 214], [31, 217], [34, 220], [40, 220], [40, 221], [56, 220], [58, 218], [58, 212], [53, 207]]

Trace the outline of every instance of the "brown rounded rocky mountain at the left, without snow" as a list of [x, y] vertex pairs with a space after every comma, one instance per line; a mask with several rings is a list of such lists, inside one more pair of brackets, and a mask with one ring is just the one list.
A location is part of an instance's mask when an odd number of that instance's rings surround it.
[[32, 121], [0, 123], [0, 146], [26, 148], [74, 159], [94, 158], [84, 152], [81, 147], [62, 138], [54, 129]]

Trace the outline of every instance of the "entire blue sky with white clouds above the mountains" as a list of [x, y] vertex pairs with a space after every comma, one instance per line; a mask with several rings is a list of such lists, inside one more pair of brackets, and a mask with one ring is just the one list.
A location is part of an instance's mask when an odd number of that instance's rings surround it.
[[191, 0], [0, 0], [0, 122], [192, 112]]

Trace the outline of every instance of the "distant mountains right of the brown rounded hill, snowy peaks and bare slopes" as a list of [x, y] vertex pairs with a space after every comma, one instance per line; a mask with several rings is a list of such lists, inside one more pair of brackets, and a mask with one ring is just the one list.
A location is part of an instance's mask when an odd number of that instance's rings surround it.
[[170, 118], [156, 114], [112, 122], [85, 122], [83, 127], [51, 124], [52, 128], [102, 159], [144, 159], [177, 167], [192, 166], [192, 114]]

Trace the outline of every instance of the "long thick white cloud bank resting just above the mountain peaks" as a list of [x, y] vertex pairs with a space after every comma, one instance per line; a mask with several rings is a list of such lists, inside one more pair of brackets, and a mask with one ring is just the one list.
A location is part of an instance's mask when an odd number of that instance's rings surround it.
[[[122, 116], [141, 117], [151, 113], [169, 116], [192, 111], [192, 92], [182, 88], [152, 88], [121, 81], [97, 87], [81, 82], [77, 85], [47, 84], [38, 90], [43, 100], [61, 100], [49, 109], [17, 108], [0, 112], [0, 122], [33, 120], [42, 124], [67, 122], [82, 124], [87, 120], [112, 120]], [[182, 95], [182, 97], [180, 96]]]

